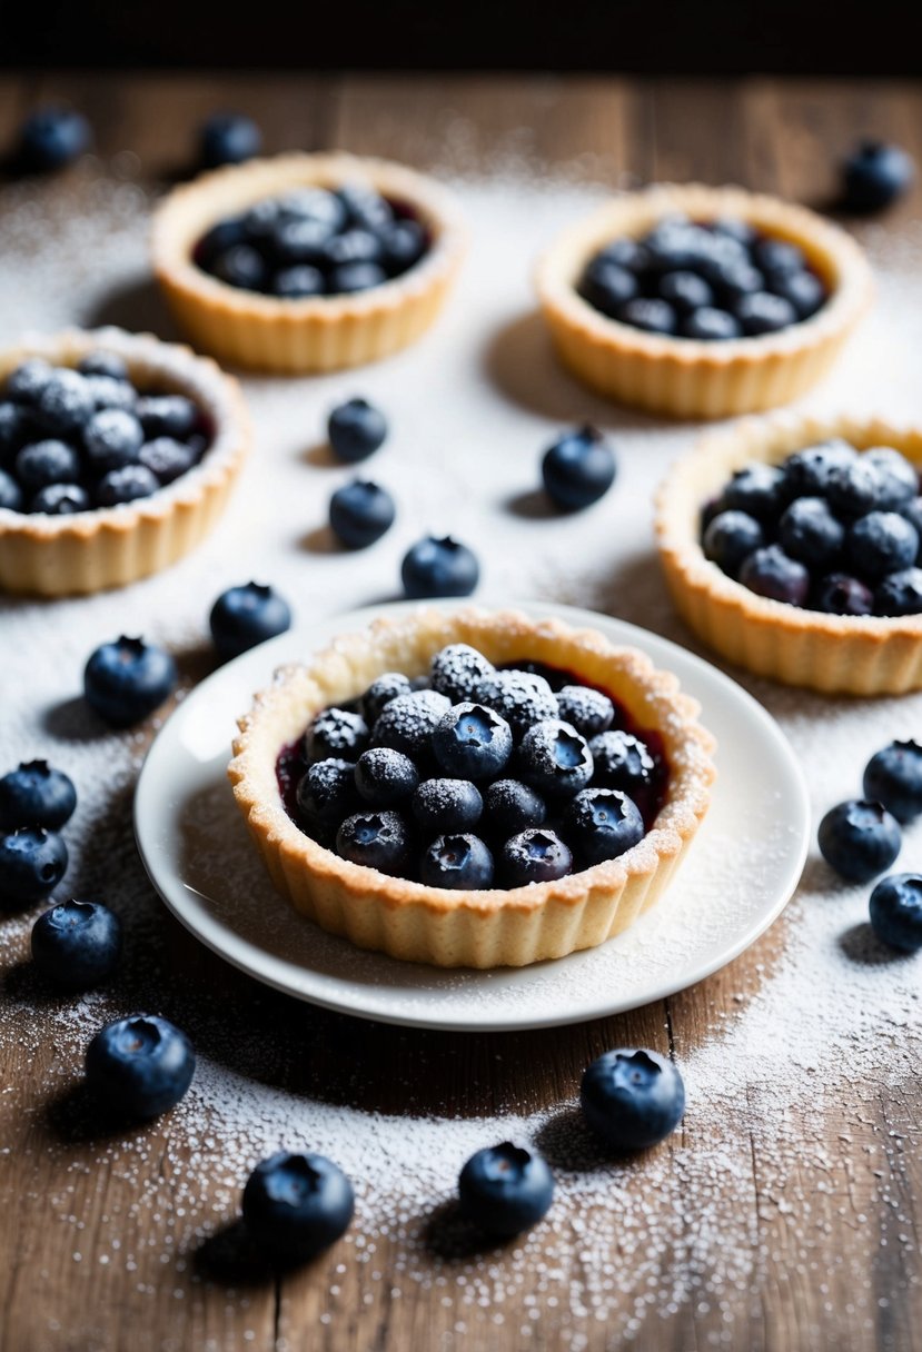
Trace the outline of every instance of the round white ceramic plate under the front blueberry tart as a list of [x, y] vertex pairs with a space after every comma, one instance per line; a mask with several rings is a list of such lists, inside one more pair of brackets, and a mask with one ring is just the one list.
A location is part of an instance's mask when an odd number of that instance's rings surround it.
[[649, 653], [700, 702], [718, 738], [714, 802], [666, 896], [600, 948], [491, 972], [365, 953], [299, 917], [269, 883], [233, 800], [226, 769], [237, 715], [276, 667], [396, 608], [351, 611], [245, 653], [204, 680], [157, 737], [138, 781], [135, 834], [154, 887], [203, 944], [297, 999], [476, 1032], [575, 1023], [661, 999], [731, 961], [780, 914], [800, 877], [810, 811], [775, 721], [727, 676], [656, 634], [530, 603], [516, 608], [589, 625]]

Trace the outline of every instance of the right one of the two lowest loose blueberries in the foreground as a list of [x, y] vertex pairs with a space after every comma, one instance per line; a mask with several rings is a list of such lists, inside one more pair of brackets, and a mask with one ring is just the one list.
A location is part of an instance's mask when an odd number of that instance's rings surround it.
[[458, 1176], [464, 1218], [502, 1238], [537, 1225], [553, 1199], [554, 1175], [546, 1160], [511, 1141], [477, 1151]]

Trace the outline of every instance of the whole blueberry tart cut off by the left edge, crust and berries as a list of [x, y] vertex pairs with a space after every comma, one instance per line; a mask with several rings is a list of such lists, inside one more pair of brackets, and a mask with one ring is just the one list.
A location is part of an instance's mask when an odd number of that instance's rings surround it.
[[0, 588], [65, 596], [166, 568], [214, 527], [250, 445], [237, 381], [120, 329], [0, 353]]

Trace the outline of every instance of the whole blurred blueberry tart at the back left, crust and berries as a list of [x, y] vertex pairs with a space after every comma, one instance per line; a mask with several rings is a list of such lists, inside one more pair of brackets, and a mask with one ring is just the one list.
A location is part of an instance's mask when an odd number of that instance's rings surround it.
[[288, 154], [176, 188], [153, 260], [189, 339], [253, 370], [338, 370], [415, 342], [464, 253], [450, 193], [385, 160]]

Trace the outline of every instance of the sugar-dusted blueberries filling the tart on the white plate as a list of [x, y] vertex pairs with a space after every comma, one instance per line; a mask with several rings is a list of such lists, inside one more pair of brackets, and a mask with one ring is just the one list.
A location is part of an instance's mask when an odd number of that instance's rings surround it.
[[641, 733], [566, 673], [498, 669], [452, 644], [427, 677], [387, 672], [322, 710], [278, 772], [301, 829], [354, 864], [431, 887], [523, 887], [644, 837], [668, 768]]

